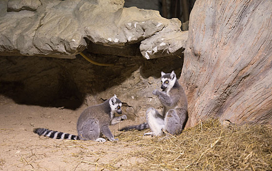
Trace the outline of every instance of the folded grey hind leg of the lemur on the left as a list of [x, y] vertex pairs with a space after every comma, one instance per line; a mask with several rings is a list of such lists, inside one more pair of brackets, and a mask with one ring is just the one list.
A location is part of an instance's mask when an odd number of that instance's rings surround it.
[[[96, 141], [100, 135], [99, 122], [97, 119], [89, 119], [84, 126], [78, 130], [79, 140], [93, 140]], [[102, 141], [98, 139], [98, 141]], [[105, 140], [106, 141], [106, 140]]]

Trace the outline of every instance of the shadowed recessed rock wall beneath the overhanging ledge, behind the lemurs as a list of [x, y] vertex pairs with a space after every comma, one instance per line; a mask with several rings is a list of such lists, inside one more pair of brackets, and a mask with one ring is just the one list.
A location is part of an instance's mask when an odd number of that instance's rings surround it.
[[94, 65], [80, 55], [76, 59], [0, 57], [0, 104], [13, 100], [18, 104], [77, 109], [97, 105], [116, 94], [128, 119], [145, 122], [148, 107], [160, 110], [158, 99], [152, 95], [160, 87], [160, 71], [175, 70], [180, 75], [183, 63], [178, 57], [88, 57], [115, 65]]

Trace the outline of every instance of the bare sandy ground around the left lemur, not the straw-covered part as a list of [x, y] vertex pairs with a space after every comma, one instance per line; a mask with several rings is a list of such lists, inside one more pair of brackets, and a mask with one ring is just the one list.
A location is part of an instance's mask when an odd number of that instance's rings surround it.
[[[27, 106], [0, 98], [0, 170], [126, 170], [127, 165], [141, 162], [122, 157], [140, 148], [133, 143], [54, 140], [32, 132], [33, 128], [49, 128], [77, 134], [77, 119], [84, 108]], [[132, 121], [122, 121], [110, 128], [118, 138], [122, 134], [118, 127], [129, 124]]]

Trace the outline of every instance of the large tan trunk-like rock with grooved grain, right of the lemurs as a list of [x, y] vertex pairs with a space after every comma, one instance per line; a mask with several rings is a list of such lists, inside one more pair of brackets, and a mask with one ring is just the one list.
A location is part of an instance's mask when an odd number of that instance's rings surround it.
[[272, 124], [272, 1], [197, 0], [179, 83], [187, 127], [218, 117]]

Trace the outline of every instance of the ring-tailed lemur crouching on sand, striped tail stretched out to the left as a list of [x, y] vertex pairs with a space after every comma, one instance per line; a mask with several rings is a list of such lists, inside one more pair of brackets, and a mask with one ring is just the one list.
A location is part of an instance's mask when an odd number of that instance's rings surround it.
[[121, 120], [127, 119], [126, 115], [114, 117], [114, 112], [122, 114], [122, 103], [114, 95], [111, 99], [104, 103], [92, 107], [88, 107], [80, 114], [78, 118], [78, 135], [63, 133], [49, 130], [46, 128], [36, 128], [33, 131], [39, 135], [44, 135], [53, 139], [69, 139], [69, 140], [93, 140], [105, 142], [104, 138], [99, 138], [100, 132], [104, 134], [110, 141], [117, 141], [109, 129], [109, 125], [119, 123]]

